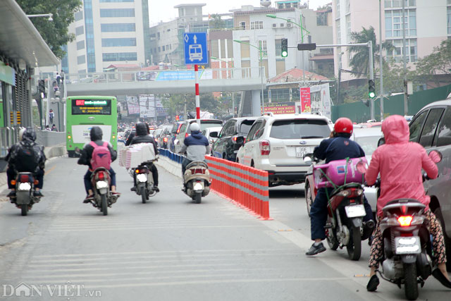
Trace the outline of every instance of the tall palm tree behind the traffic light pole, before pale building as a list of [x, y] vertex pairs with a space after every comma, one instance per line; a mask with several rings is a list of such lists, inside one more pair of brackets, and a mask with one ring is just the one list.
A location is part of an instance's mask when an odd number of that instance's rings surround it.
[[[370, 26], [369, 29], [362, 27], [361, 32], [351, 32], [352, 43], [366, 43], [371, 41], [373, 43], [373, 62], [379, 63], [379, 44], [376, 44], [376, 33], [374, 27]], [[382, 49], [389, 51], [393, 48], [393, 44], [388, 41], [382, 43]], [[350, 66], [352, 73], [359, 77], [366, 77], [369, 73], [369, 48], [352, 46], [349, 48], [352, 56]]]

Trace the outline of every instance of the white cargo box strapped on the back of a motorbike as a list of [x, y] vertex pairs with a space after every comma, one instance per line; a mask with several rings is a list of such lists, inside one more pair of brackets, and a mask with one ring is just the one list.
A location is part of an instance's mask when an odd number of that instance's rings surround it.
[[121, 149], [119, 164], [125, 168], [136, 167], [156, 158], [152, 143], [138, 143]]

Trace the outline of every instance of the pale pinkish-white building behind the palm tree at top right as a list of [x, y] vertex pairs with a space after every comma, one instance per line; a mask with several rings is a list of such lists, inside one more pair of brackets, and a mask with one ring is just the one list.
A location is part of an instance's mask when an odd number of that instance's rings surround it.
[[[431, 5], [433, 2], [433, 5]], [[379, 1], [333, 0], [333, 42], [352, 42], [351, 32], [362, 27], [374, 27], [379, 44]], [[393, 50], [383, 53], [387, 59], [401, 63], [402, 50], [402, 1], [382, 1], [382, 41], [390, 41]], [[414, 68], [418, 59], [431, 54], [444, 39], [451, 38], [451, 0], [404, 0], [404, 27], [406, 61]], [[345, 47], [335, 48], [335, 76], [338, 70], [350, 70], [351, 54]], [[378, 62], [375, 62], [378, 66]], [[342, 73], [342, 81], [357, 78]]]

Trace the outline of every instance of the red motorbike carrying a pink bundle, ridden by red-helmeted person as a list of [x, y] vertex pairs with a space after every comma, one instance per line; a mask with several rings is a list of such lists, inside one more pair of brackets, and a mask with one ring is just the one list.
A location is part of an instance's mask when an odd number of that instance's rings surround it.
[[331, 250], [346, 247], [348, 257], [357, 261], [362, 254], [362, 240], [371, 235], [374, 221], [364, 222], [363, 174], [357, 170], [359, 163], [366, 163], [365, 157], [330, 161], [316, 165], [318, 159], [306, 154], [304, 162], [312, 162], [314, 185], [319, 188], [333, 188], [328, 194], [328, 217], [326, 240]]

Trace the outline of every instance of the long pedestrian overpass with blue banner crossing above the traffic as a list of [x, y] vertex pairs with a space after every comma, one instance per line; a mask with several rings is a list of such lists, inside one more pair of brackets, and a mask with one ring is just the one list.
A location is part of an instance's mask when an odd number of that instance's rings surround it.
[[[266, 78], [259, 67], [199, 70], [201, 93], [252, 91], [252, 113], [259, 115]], [[194, 70], [136, 70], [66, 74], [67, 96], [194, 93]], [[250, 100], [250, 99], [249, 99]]]

